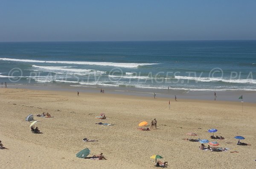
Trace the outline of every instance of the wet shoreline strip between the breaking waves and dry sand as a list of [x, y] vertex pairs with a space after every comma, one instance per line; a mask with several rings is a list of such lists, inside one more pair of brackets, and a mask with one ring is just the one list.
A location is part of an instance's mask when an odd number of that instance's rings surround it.
[[[4, 88], [4, 86], [3, 86]], [[15, 89], [35, 89], [35, 90], [58, 90], [58, 91], [79, 91], [79, 92], [90, 92], [99, 93], [100, 89], [105, 89], [105, 93], [118, 94], [118, 95], [133, 95], [133, 96], [144, 96], [153, 97], [153, 93], [156, 93], [156, 97], [166, 98], [174, 100], [175, 95], [177, 100], [189, 99], [189, 100], [213, 100], [213, 101], [233, 101], [241, 102], [239, 97], [243, 95], [243, 101], [248, 103], [256, 103], [256, 92], [244, 91], [244, 90], [216, 90], [217, 97], [215, 100], [214, 91], [186, 91], [177, 89], [143, 89], [134, 87], [113, 87], [113, 86], [101, 86], [101, 85], [88, 85], [88, 86], [73, 86], [73, 85], [49, 85], [49, 84], [11, 84], [7, 85], [7, 88]]]

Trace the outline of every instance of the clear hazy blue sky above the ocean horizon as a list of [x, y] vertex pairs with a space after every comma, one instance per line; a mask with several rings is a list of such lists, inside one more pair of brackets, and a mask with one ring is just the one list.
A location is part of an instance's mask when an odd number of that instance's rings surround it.
[[256, 40], [256, 0], [1, 0], [0, 41]]

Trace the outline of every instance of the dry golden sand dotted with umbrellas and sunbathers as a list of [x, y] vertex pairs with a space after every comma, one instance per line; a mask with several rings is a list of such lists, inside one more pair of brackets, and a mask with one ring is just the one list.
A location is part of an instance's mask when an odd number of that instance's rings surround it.
[[[240, 102], [171, 100], [169, 110], [165, 98], [81, 92], [78, 97], [76, 91], [0, 89], [0, 98], [0, 140], [9, 148], [0, 149], [0, 168], [149, 169], [155, 168], [154, 159], [149, 158], [155, 154], [168, 161], [168, 168], [256, 166], [255, 103], [244, 103], [242, 113]], [[54, 117], [36, 117], [43, 112]], [[95, 118], [102, 112], [108, 120]], [[29, 114], [41, 121], [36, 126], [42, 134], [30, 131], [30, 123], [25, 121]], [[154, 118], [158, 129], [137, 129], [141, 121], [150, 123]], [[215, 135], [226, 138], [218, 142], [229, 151], [203, 151], [198, 148], [200, 143], [182, 140], [190, 137], [187, 132], [209, 139], [207, 130], [211, 128], [218, 129]], [[252, 146], [236, 145], [236, 135], [244, 136], [242, 142]], [[84, 137], [99, 141], [85, 143]], [[84, 148], [91, 155], [103, 152], [108, 160], [76, 158]]]

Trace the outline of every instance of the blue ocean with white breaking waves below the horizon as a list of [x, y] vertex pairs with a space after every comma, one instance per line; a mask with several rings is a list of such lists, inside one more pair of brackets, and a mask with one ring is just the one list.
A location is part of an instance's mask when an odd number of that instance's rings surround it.
[[256, 41], [1, 42], [0, 82], [256, 91]]

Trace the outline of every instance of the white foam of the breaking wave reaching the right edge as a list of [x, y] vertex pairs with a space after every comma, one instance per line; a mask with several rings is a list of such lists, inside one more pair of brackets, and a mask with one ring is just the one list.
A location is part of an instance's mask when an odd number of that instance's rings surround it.
[[214, 82], [222, 81], [227, 83], [256, 83], [254, 79], [222, 79], [222, 78], [211, 78], [211, 77], [188, 77], [188, 76], [175, 76], [176, 79], [183, 80], [195, 80], [200, 82]]

